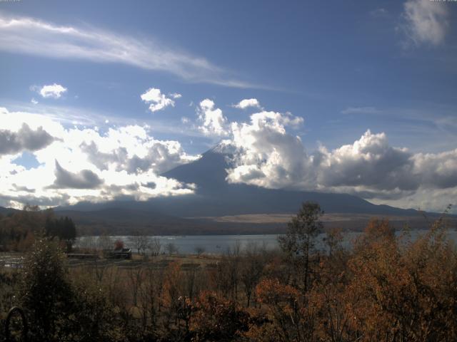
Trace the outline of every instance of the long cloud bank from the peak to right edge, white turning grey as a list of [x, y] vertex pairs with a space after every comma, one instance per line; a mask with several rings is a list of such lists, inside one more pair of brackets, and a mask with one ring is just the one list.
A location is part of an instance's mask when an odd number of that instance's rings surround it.
[[[225, 140], [236, 147], [227, 170], [229, 182], [351, 193], [401, 207], [427, 190], [444, 195], [433, 195], [433, 206], [421, 199], [416, 207], [420, 202], [427, 203], [426, 209], [442, 209], [455, 201], [450, 194], [457, 192], [457, 150], [413, 154], [389, 145], [385, 133], [367, 130], [350, 145], [334, 150], [321, 146], [309, 155], [301, 140], [286, 130], [293, 118], [279, 113], [256, 115], [251, 115], [251, 123], [233, 124], [233, 139]], [[403, 205], [402, 198], [408, 199]]]

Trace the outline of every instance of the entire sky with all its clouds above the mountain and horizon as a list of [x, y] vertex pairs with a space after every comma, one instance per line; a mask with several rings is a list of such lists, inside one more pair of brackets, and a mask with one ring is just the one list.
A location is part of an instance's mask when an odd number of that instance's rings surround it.
[[0, 0], [0, 205], [191, 194], [161, 173], [219, 144], [227, 182], [440, 212], [457, 198], [456, 14]]

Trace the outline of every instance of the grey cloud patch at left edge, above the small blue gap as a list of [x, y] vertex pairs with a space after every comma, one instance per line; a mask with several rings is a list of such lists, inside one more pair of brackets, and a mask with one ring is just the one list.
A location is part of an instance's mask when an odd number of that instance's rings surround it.
[[41, 150], [53, 141], [54, 138], [41, 126], [31, 130], [29, 125], [23, 123], [17, 132], [0, 130], [0, 156], [14, 155], [24, 150]]

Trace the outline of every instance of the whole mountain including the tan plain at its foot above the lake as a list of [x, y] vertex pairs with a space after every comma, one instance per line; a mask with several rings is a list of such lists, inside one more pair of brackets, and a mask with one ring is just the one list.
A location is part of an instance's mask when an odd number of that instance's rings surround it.
[[362, 229], [373, 216], [389, 217], [396, 227], [405, 222], [415, 222], [416, 227], [424, 224], [418, 223], [421, 215], [416, 210], [376, 205], [353, 195], [229, 184], [226, 182], [226, 169], [230, 166], [227, 157], [219, 148], [214, 148], [199, 160], [163, 174], [180, 182], [194, 183], [196, 192], [192, 195], [159, 197], [145, 202], [81, 202], [55, 211], [73, 217], [76, 224], [94, 233], [109, 230], [111, 234], [132, 229], [146, 229], [154, 234], [283, 232], [285, 222], [306, 201], [321, 205], [327, 214], [327, 227]]

